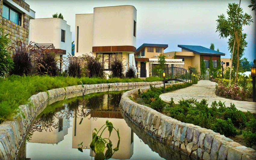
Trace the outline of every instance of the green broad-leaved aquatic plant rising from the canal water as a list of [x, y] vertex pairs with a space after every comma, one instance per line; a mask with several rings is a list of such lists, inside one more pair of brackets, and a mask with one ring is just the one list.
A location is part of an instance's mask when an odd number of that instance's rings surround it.
[[[106, 126], [105, 126], [106, 125]], [[101, 131], [101, 129], [105, 126], [105, 128]], [[112, 149], [112, 142], [111, 140], [108, 138], [102, 138], [101, 135], [102, 133], [105, 131], [105, 129], [108, 128], [109, 131], [109, 137], [111, 135], [111, 132], [113, 131], [113, 129], [117, 132], [117, 136], [118, 136], [118, 142], [117, 142], [117, 147], [115, 147], [114, 149]], [[94, 130], [96, 132], [94, 132]], [[98, 136], [98, 133], [101, 134]], [[108, 142], [109, 141], [109, 142]], [[112, 155], [119, 150], [119, 144], [120, 144], [120, 136], [119, 136], [119, 131], [118, 129], [116, 130], [116, 128], [113, 127], [113, 124], [111, 122], [108, 122], [108, 120], [106, 121], [106, 123], [99, 129], [99, 131], [97, 131], [96, 128], [94, 128], [92, 130], [92, 142], [90, 144], [90, 148], [93, 150], [93, 152], [95, 152], [95, 160], [104, 160], [104, 159], [109, 159], [112, 157]], [[80, 152], [83, 152], [82, 148], [83, 148], [83, 142], [78, 144], [78, 146], [80, 146], [78, 148], [78, 150]], [[107, 151], [105, 152], [104, 155], [104, 151], [105, 148], [107, 148]], [[112, 151], [114, 150], [114, 152]]]

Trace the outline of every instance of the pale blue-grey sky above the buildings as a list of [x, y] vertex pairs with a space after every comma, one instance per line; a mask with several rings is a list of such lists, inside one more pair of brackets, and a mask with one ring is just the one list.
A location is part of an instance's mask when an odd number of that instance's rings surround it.
[[[56, 12], [64, 16], [70, 25], [72, 42], [75, 41], [75, 14], [92, 14], [95, 7], [133, 5], [137, 9], [136, 48], [143, 43], [167, 44], [164, 52], [181, 51], [178, 45], [200, 45], [226, 54], [230, 58], [228, 38], [220, 38], [216, 32], [218, 15], [226, 14], [228, 3], [239, 0], [25, 0], [36, 12], [35, 18], [50, 18]], [[244, 56], [248, 61], [256, 59], [256, 15], [249, 8], [250, 0], [241, 0], [240, 7], [252, 16], [253, 23], [244, 26], [245, 39], [248, 42]], [[86, 23], [86, 22], [85, 22]]]

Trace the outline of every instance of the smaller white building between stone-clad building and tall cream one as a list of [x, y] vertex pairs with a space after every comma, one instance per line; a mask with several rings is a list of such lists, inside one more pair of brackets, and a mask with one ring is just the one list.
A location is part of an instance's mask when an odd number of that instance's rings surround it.
[[[31, 20], [30, 28], [30, 41], [37, 48], [53, 49], [60, 60], [71, 55], [72, 34], [67, 21], [61, 18], [38, 18]], [[61, 63], [60, 69], [63, 69]]]

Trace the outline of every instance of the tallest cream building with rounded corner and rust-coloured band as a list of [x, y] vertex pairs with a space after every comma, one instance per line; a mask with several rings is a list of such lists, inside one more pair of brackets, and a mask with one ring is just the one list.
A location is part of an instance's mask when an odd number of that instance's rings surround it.
[[93, 14], [76, 14], [74, 55], [103, 55], [105, 71], [109, 73], [109, 61], [118, 54], [123, 57], [126, 71], [130, 54], [134, 57], [136, 53], [136, 14], [131, 5], [97, 7]]

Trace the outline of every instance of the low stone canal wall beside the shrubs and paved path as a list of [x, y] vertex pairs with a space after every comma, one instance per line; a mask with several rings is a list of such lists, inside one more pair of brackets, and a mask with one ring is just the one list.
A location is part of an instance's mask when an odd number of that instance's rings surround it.
[[[185, 82], [180, 82], [185, 83]], [[179, 83], [179, 84], [180, 84]], [[175, 84], [166, 84], [175, 85]], [[157, 85], [160, 87], [163, 85]], [[149, 87], [140, 88], [145, 92]], [[129, 96], [138, 94], [138, 89], [123, 93], [120, 108], [136, 125], [168, 146], [187, 153], [195, 159], [205, 160], [255, 160], [256, 151], [241, 146], [230, 138], [210, 129], [183, 123], [163, 115], [147, 106], [137, 104]]]

